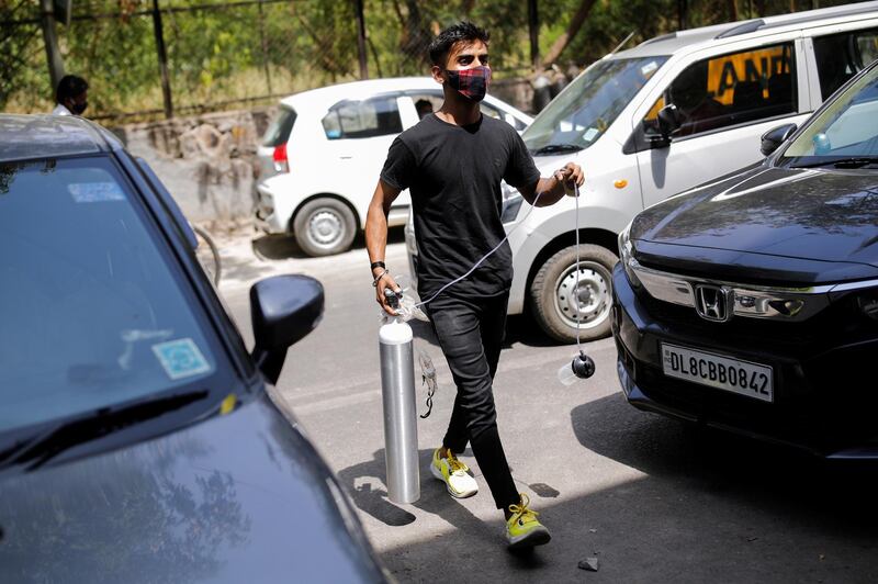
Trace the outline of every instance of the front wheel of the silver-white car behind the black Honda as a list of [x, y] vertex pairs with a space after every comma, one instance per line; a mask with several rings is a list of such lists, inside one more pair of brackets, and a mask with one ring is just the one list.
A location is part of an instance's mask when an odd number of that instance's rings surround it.
[[612, 267], [619, 258], [596, 245], [579, 246], [578, 285], [576, 246], [570, 246], [542, 265], [530, 285], [533, 316], [552, 338], [576, 342], [604, 338], [610, 333]]

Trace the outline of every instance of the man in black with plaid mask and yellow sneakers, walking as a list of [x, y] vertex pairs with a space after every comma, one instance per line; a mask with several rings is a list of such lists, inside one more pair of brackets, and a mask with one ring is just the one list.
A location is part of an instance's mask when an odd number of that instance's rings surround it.
[[[403, 132], [387, 153], [365, 223], [376, 300], [394, 314], [385, 289], [398, 291], [384, 263], [387, 213], [401, 191], [409, 189], [418, 245], [418, 291], [430, 299], [466, 272], [505, 237], [500, 222], [500, 181], [517, 188], [539, 206], [555, 203], [582, 169], [569, 164], [552, 178], [540, 178], [521, 137], [504, 121], [483, 116], [479, 103], [491, 81], [488, 33], [469, 22], [454, 24], [430, 44], [434, 79], [442, 85], [441, 109]], [[470, 277], [426, 304], [436, 336], [458, 388], [442, 446], [430, 471], [454, 497], [479, 487], [458, 460], [466, 442], [506, 517], [513, 548], [550, 540], [549, 530], [518, 493], [497, 430], [493, 378], [506, 326], [513, 279], [511, 250], [502, 245]]]

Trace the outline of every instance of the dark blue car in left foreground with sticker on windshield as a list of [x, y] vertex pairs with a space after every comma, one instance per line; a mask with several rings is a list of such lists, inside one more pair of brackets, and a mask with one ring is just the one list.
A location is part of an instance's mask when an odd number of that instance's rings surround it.
[[188, 223], [110, 133], [0, 115], [0, 582], [383, 582], [270, 398], [320, 284], [254, 285], [247, 351]]

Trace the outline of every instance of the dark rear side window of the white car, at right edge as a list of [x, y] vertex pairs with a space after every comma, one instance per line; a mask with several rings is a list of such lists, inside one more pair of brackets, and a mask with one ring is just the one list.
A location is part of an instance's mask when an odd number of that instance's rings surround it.
[[820, 93], [825, 100], [878, 58], [878, 29], [818, 36], [814, 57]]

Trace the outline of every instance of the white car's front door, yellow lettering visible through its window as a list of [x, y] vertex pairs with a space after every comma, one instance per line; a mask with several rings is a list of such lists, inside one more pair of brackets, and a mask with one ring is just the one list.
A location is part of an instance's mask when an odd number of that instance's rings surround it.
[[[635, 134], [646, 137], [637, 154], [644, 206], [758, 161], [764, 132], [807, 117], [798, 35], [690, 57], [648, 101], [635, 117]], [[668, 103], [677, 108], [680, 125], [662, 145], [653, 138], [661, 135], [657, 113]]]

